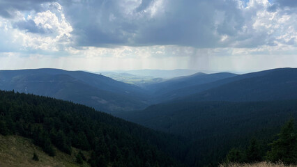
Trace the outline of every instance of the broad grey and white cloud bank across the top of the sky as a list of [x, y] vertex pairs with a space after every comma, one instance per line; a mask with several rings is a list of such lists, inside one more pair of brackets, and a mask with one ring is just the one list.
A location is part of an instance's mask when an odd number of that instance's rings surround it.
[[[8, 31], [15, 32], [10, 38], [21, 38], [24, 49], [73, 51], [165, 45], [197, 49], [280, 48], [296, 46], [295, 10], [280, 8], [294, 6], [290, 2], [5, 0], [0, 2], [0, 13], [7, 13], [0, 15]], [[155, 51], [153, 47], [151, 51]]]

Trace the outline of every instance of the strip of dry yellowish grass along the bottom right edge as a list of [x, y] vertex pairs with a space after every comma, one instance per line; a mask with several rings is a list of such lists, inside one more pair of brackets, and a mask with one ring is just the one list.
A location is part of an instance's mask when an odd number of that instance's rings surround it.
[[282, 163], [272, 164], [270, 162], [259, 162], [255, 164], [228, 164], [228, 165], [220, 165], [220, 167], [297, 167], [295, 165], [285, 166]]

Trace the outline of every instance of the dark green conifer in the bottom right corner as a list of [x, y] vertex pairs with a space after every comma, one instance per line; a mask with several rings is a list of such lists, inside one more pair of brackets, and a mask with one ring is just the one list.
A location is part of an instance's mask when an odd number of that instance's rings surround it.
[[273, 141], [271, 151], [267, 152], [268, 161], [282, 161], [284, 164], [297, 162], [297, 140], [294, 128], [294, 119], [289, 120], [277, 134], [277, 140]]

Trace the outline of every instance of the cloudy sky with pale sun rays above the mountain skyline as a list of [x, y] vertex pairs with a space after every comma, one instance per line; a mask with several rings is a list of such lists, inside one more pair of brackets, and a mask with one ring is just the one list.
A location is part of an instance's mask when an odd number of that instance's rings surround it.
[[296, 0], [0, 0], [0, 69], [297, 67]]

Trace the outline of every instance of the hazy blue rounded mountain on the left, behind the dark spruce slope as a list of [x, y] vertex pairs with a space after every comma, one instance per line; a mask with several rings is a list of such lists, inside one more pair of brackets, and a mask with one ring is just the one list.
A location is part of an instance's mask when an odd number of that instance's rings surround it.
[[70, 100], [100, 111], [143, 109], [146, 92], [100, 74], [58, 69], [2, 70], [0, 89]]

